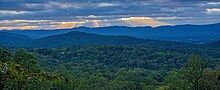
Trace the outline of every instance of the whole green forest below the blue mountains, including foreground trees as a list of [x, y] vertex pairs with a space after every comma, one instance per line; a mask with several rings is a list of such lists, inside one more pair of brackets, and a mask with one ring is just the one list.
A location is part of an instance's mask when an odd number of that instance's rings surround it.
[[216, 46], [74, 45], [0, 50], [1, 89], [217, 90]]

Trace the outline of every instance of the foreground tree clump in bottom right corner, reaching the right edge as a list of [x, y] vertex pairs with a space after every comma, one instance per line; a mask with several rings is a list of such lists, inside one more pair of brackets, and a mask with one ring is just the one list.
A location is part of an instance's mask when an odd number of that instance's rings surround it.
[[206, 68], [208, 60], [192, 55], [180, 70], [174, 70], [165, 78], [160, 90], [216, 90], [218, 70]]

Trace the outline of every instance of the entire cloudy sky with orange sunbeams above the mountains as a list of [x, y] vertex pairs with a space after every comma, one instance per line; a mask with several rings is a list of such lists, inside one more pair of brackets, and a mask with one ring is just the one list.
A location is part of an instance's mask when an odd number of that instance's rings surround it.
[[0, 30], [220, 22], [220, 0], [0, 0]]

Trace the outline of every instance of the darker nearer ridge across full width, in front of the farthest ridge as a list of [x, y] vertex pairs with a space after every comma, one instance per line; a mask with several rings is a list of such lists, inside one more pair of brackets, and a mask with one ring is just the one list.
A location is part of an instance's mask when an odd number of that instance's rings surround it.
[[[203, 46], [216, 47], [219, 41], [204, 43]], [[200, 46], [189, 43], [141, 39], [120, 35], [98, 35], [79, 31], [34, 39], [25, 35], [0, 32], [0, 46], [23, 47], [23, 48], [56, 48], [72, 45], [144, 45], [147, 47], [182, 47]]]

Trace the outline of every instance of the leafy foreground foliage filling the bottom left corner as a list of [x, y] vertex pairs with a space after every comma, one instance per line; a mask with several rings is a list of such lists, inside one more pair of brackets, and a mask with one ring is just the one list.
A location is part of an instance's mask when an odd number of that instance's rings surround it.
[[24, 49], [15, 51], [0, 50], [0, 89], [49, 89], [52, 83], [61, 80], [58, 75], [40, 70], [34, 56]]

